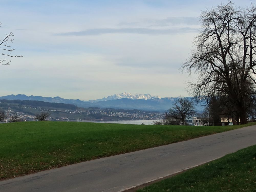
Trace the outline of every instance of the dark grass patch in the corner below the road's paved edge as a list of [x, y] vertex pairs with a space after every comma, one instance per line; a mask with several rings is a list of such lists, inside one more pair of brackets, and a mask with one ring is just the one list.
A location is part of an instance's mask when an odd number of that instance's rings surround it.
[[137, 190], [166, 191], [256, 191], [256, 145]]

